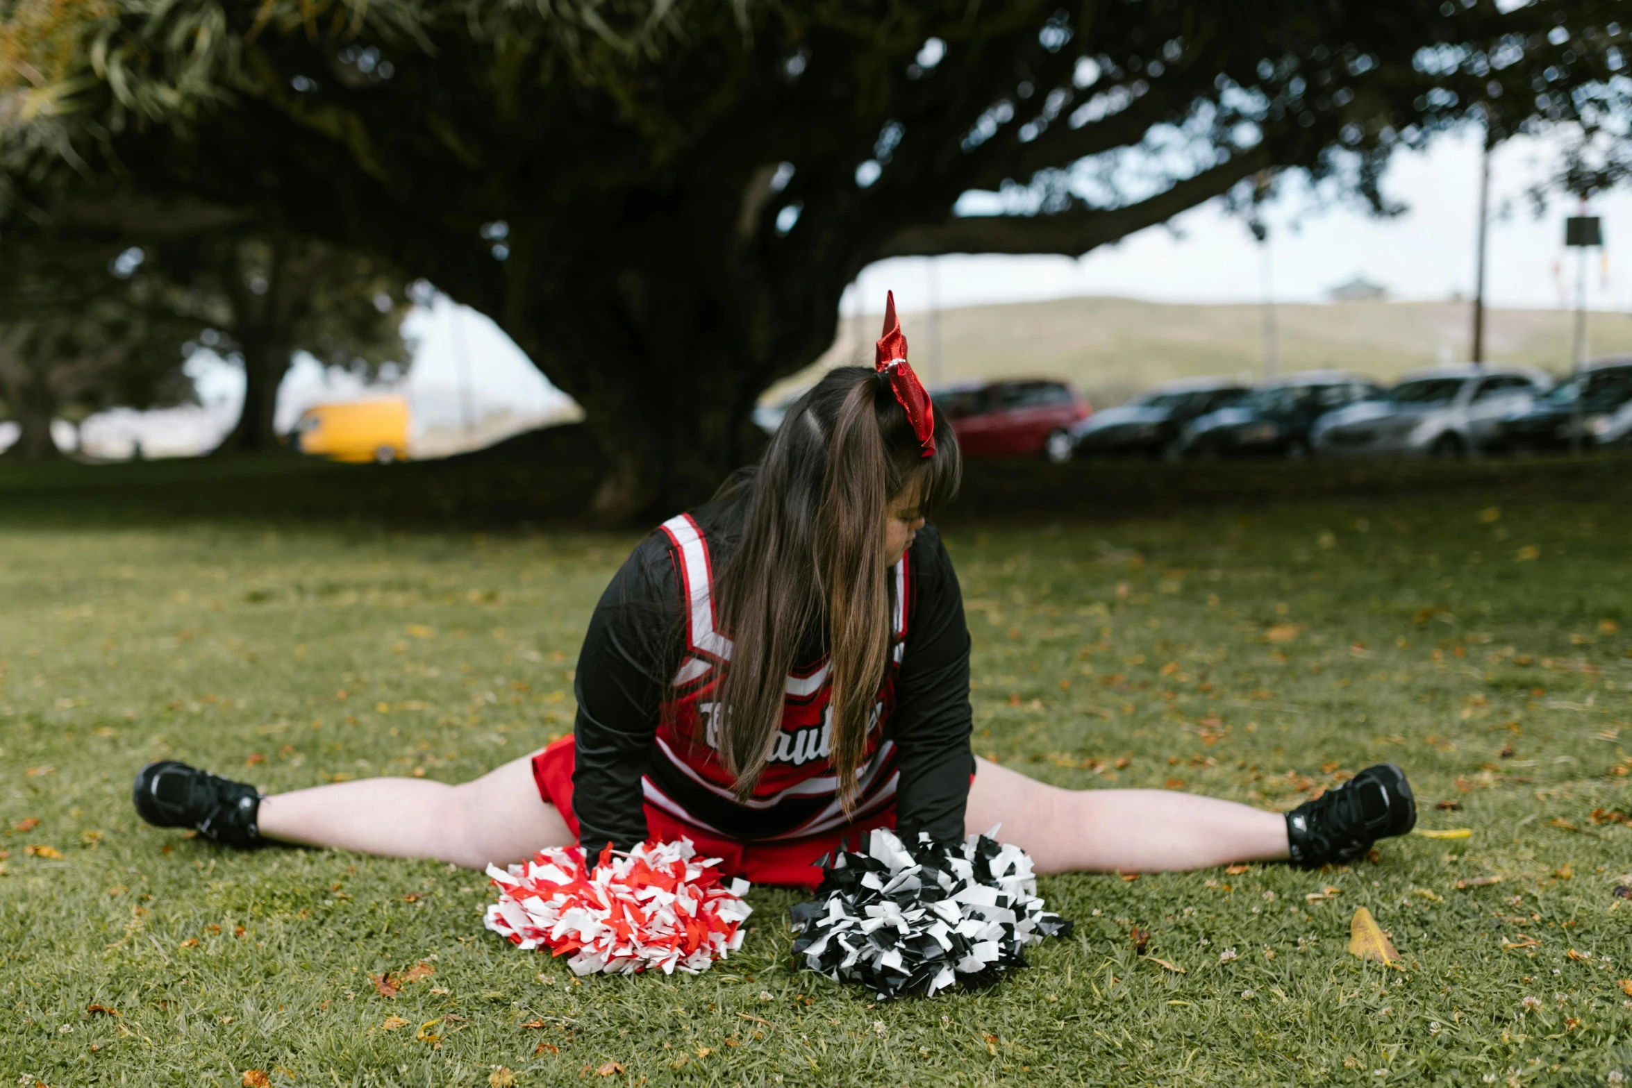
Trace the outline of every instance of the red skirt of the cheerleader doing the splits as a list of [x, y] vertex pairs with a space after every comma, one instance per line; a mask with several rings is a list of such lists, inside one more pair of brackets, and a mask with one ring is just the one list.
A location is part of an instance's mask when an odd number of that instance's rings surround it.
[[[555, 806], [561, 819], [566, 820], [568, 830], [573, 832], [573, 838], [578, 838], [578, 814], [573, 812], [574, 759], [573, 737], [561, 737], [532, 757], [532, 778], [539, 783], [539, 796]], [[824, 835], [749, 842], [725, 838], [646, 804], [646, 832], [653, 838], [674, 842], [685, 835], [705, 858], [720, 858], [720, 871], [726, 876], [741, 876], [754, 884], [778, 884], [782, 887], [816, 887], [821, 884], [821, 868], [816, 863], [821, 861], [823, 855], [839, 848], [840, 837], [849, 837], [850, 848], [855, 850], [858, 842], [865, 843], [865, 832], [875, 827], [893, 829], [894, 825], [896, 809], [889, 806], [865, 820]], [[584, 848], [599, 850], [604, 845], [586, 843]]]

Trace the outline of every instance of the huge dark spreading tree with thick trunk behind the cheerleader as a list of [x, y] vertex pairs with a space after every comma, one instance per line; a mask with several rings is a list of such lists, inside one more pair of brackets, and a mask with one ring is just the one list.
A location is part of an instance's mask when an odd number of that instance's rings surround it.
[[605, 515], [734, 465], [873, 259], [1080, 254], [1276, 170], [1381, 209], [1474, 111], [1625, 116], [1611, 0], [0, 5], [18, 214], [116, 171], [384, 254], [584, 406]]

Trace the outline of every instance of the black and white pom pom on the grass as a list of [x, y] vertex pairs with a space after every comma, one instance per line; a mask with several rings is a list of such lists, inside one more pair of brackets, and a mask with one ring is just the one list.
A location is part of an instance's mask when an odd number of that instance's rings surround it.
[[951, 845], [920, 834], [907, 847], [876, 829], [867, 853], [840, 850], [824, 863], [816, 899], [788, 913], [795, 956], [878, 1000], [989, 985], [1025, 967], [1027, 944], [1071, 933], [1071, 922], [1043, 910], [1030, 855], [987, 835]]

